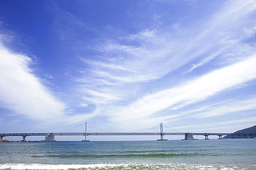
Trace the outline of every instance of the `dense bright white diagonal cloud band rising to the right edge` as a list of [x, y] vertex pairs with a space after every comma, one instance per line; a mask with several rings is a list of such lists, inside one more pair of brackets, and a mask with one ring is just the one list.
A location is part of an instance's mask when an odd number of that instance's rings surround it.
[[[144, 96], [133, 104], [114, 111], [112, 113], [114, 116], [113, 121], [125, 124], [135, 122], [136, 124], [136, 120], [151, 118], [151, 116], [166, 108], [177, 110], [189, 104], [205, 100], [217, 92], [255, 79], [255, 65], [256, 55], [253, 55], [242, 62], [212, 71], [181, 86]], [[249, 105], [252, 106], [251, 101]], [[230, 108], [232, 107], [227, 109]], [[233, 108], [229, 111], [237, 110]]]

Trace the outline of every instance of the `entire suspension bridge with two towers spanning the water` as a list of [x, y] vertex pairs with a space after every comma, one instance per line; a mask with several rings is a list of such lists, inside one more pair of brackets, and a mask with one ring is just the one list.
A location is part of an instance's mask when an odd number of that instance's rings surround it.
[[183, 140], [193, 140], [195, 139], [194, 135], [203, 135], [205, 136], [205, 139], [209, 139], [208, 136], [210, 135], [217, 135], [219, 136], [219, 139], [222, 139], [222, 136], [224, 135], [231, 135], [232, 138], [256, 138], [256, 134], [244, 134], [244, 133], [185, 133], [185, 132], [181, 132], [179, 130], [173, 129], [171, 127], [168, 127], [167, 125], [164, 125], [162, 123], [150, 129], [146, 129], [139, 132], [112, 132], [112, 131], [98, 128], [86, 122], [77, 127], [74, 127], [65, 131], [61, 131], [61, 132], [56, 132], [56, 133], [0, 133], [0, 139], [3, 139], [3, 137], [5, 136], [22, 136], [23, 137], [22, 141], [26, 141], [25, 138], [27, 136], [45, 136], [45, 140], [42, 140], [42, 141], [56, 141], [55, 136], [58, 136], [58, 135], [85, 136], [85, 139], [82, 141], [90, 141], [87, 139], [87, 136], [89, 135], [159, 135], [160, 139], [157, 139], [157, 140], [167, 140], [167, 139], [164, 139], [164, 135], [184, 135], [185, 138]]

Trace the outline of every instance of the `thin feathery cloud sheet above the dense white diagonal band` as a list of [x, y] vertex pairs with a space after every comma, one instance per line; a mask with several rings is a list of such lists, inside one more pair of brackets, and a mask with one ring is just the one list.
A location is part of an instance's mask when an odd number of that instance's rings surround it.
[[[95, 69], [92, 77], [97, 79], [98, 75], [124, 83], [153, 81], [195, 59], [201, 61], [192, 64], [187, 72], [217, 56], [223, 66], [241, 60], [242, 54], [253, 52], [253, 46], [243, 43], [243, 35], [254, 35], [250, 15], [256, 7], [249, 2], [225, 5], [227, 7], [220, 8], [208, 20], [200, 21], [200, 27], [185, 29], [180, 24], [181, 26], [170, 31], [161, 28], [146, 29], [100, 43], [95, 50], [102, 53], [103, 60], [100, 61], [101, 64], [97, 61], [90, 63], [91, 68]], [[204, 57], [205, 55], [208, 57]], [[117, 76], [120, 68], [126, 71], [122, 78]]]

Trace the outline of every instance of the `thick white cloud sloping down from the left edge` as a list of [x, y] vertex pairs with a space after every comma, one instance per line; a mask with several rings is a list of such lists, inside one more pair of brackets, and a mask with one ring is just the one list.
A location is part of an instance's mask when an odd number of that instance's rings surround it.
[[30, 64], [31, 58], [12, 53], [0, 44], [1, 107], [37, 120], [63, 116], [65, 104], [40, 83]]

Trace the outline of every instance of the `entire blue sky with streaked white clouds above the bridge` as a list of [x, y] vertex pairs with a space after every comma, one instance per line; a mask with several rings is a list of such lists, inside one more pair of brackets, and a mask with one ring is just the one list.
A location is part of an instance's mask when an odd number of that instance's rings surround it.
[[255, 19], [256, 1], [0, 0], [0, 131], [254, 126]]

